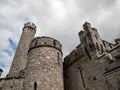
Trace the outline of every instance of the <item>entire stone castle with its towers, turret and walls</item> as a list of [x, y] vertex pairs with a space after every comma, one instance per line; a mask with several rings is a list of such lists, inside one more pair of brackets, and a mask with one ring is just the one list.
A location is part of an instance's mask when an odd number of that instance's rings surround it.
[[120, 39], [111, 44], [90, 23], [83, 28], [78, 33], [81, 43], [62, 60], [61, 43], [34, 37], [35, 24], [25, 23], [0, 90], [120, 90]]

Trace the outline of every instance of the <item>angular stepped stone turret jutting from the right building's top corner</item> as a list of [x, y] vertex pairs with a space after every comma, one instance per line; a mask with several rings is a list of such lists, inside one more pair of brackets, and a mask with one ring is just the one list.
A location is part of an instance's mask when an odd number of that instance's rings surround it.
[[105, 47], [96, 28], [86, 22], [83, 25], [84, 31], [79, 32], [81, 46], [85, 54], [91, 59], [91, 56], [100, 57], [105, 54]]

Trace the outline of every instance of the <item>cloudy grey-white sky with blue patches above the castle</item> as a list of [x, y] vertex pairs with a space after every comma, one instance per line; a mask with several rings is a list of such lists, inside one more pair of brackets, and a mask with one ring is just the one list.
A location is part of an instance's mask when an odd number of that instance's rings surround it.
[[80, 42], [82, 24], [90, 22], [102, 39], [120, 37], [120, 0], [0, 0], [0, 68], [10, 68], [25, 22], [36, 36], [50, 36], [63, 45], [64, 56]]

